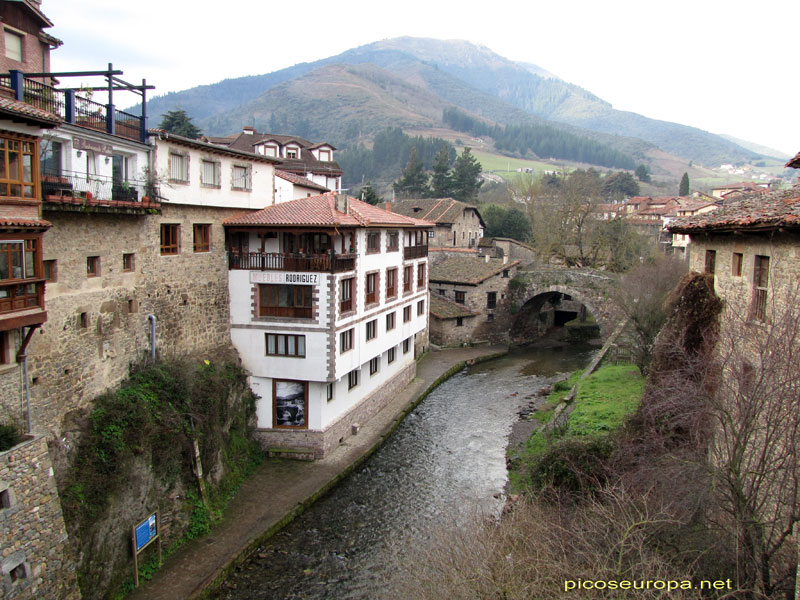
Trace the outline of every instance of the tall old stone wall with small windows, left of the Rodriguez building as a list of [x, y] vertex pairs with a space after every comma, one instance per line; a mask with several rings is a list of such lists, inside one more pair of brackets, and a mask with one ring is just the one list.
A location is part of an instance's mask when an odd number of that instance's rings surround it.
[[[145, 216], [45, 211], [53, 227], [44, 260], [57, 261], [57, 274], [46, 287], [48, 320], [28, 349], [34, 431], [61, 436], [68, 413], [126, 377], [149, 353], [149, 314], [160, 355], [232, 348], [220, 223], [238, 212], [168, 204]], [[162, 223], [180, 225], [177, 255], [161, 254]], [[211, 224], [210, 252], [194, 252], [195, 223]], [[123, 254], [133, 255], [130, 272]], [[99, 274], [90, 277], [93, 256]]]

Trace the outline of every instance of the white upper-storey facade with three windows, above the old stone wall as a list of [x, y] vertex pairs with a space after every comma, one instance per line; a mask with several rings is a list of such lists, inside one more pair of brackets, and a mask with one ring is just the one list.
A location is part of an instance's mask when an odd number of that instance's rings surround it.
[[238, 150], [153, 133], [161, 195], [173, 204], [258, 210], [275, 203], [275, 164]]

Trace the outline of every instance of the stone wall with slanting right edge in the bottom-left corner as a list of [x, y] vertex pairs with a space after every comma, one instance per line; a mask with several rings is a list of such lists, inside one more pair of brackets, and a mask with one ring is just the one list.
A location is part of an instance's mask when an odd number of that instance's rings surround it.
[[0, 597], [80, 598], [42, 436], [0, 452]]

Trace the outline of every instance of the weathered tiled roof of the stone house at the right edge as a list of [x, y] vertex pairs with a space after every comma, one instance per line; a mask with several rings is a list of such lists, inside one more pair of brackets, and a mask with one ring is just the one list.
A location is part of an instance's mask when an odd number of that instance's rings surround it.
[[673, 233], [764, 231], [779, 227], [800, 229], [800, 185], [788, 190], [741, 196], [712, 212], [676, 219]]

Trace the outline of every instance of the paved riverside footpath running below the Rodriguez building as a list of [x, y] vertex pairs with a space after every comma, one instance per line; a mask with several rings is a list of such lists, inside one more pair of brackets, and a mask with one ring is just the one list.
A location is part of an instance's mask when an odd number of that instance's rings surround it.
[[452, 348], [430, 352], [417, 375], [357, 435], [314, 462], [266, 459], [230, 501], [208, 536], [192, 540], [170, 556], [150, 581], [141, 581], [131, 600], [194, 600], [241, 564], [377, 450], [411, 409], [467, 361], [506, 352], [505, 346]]

